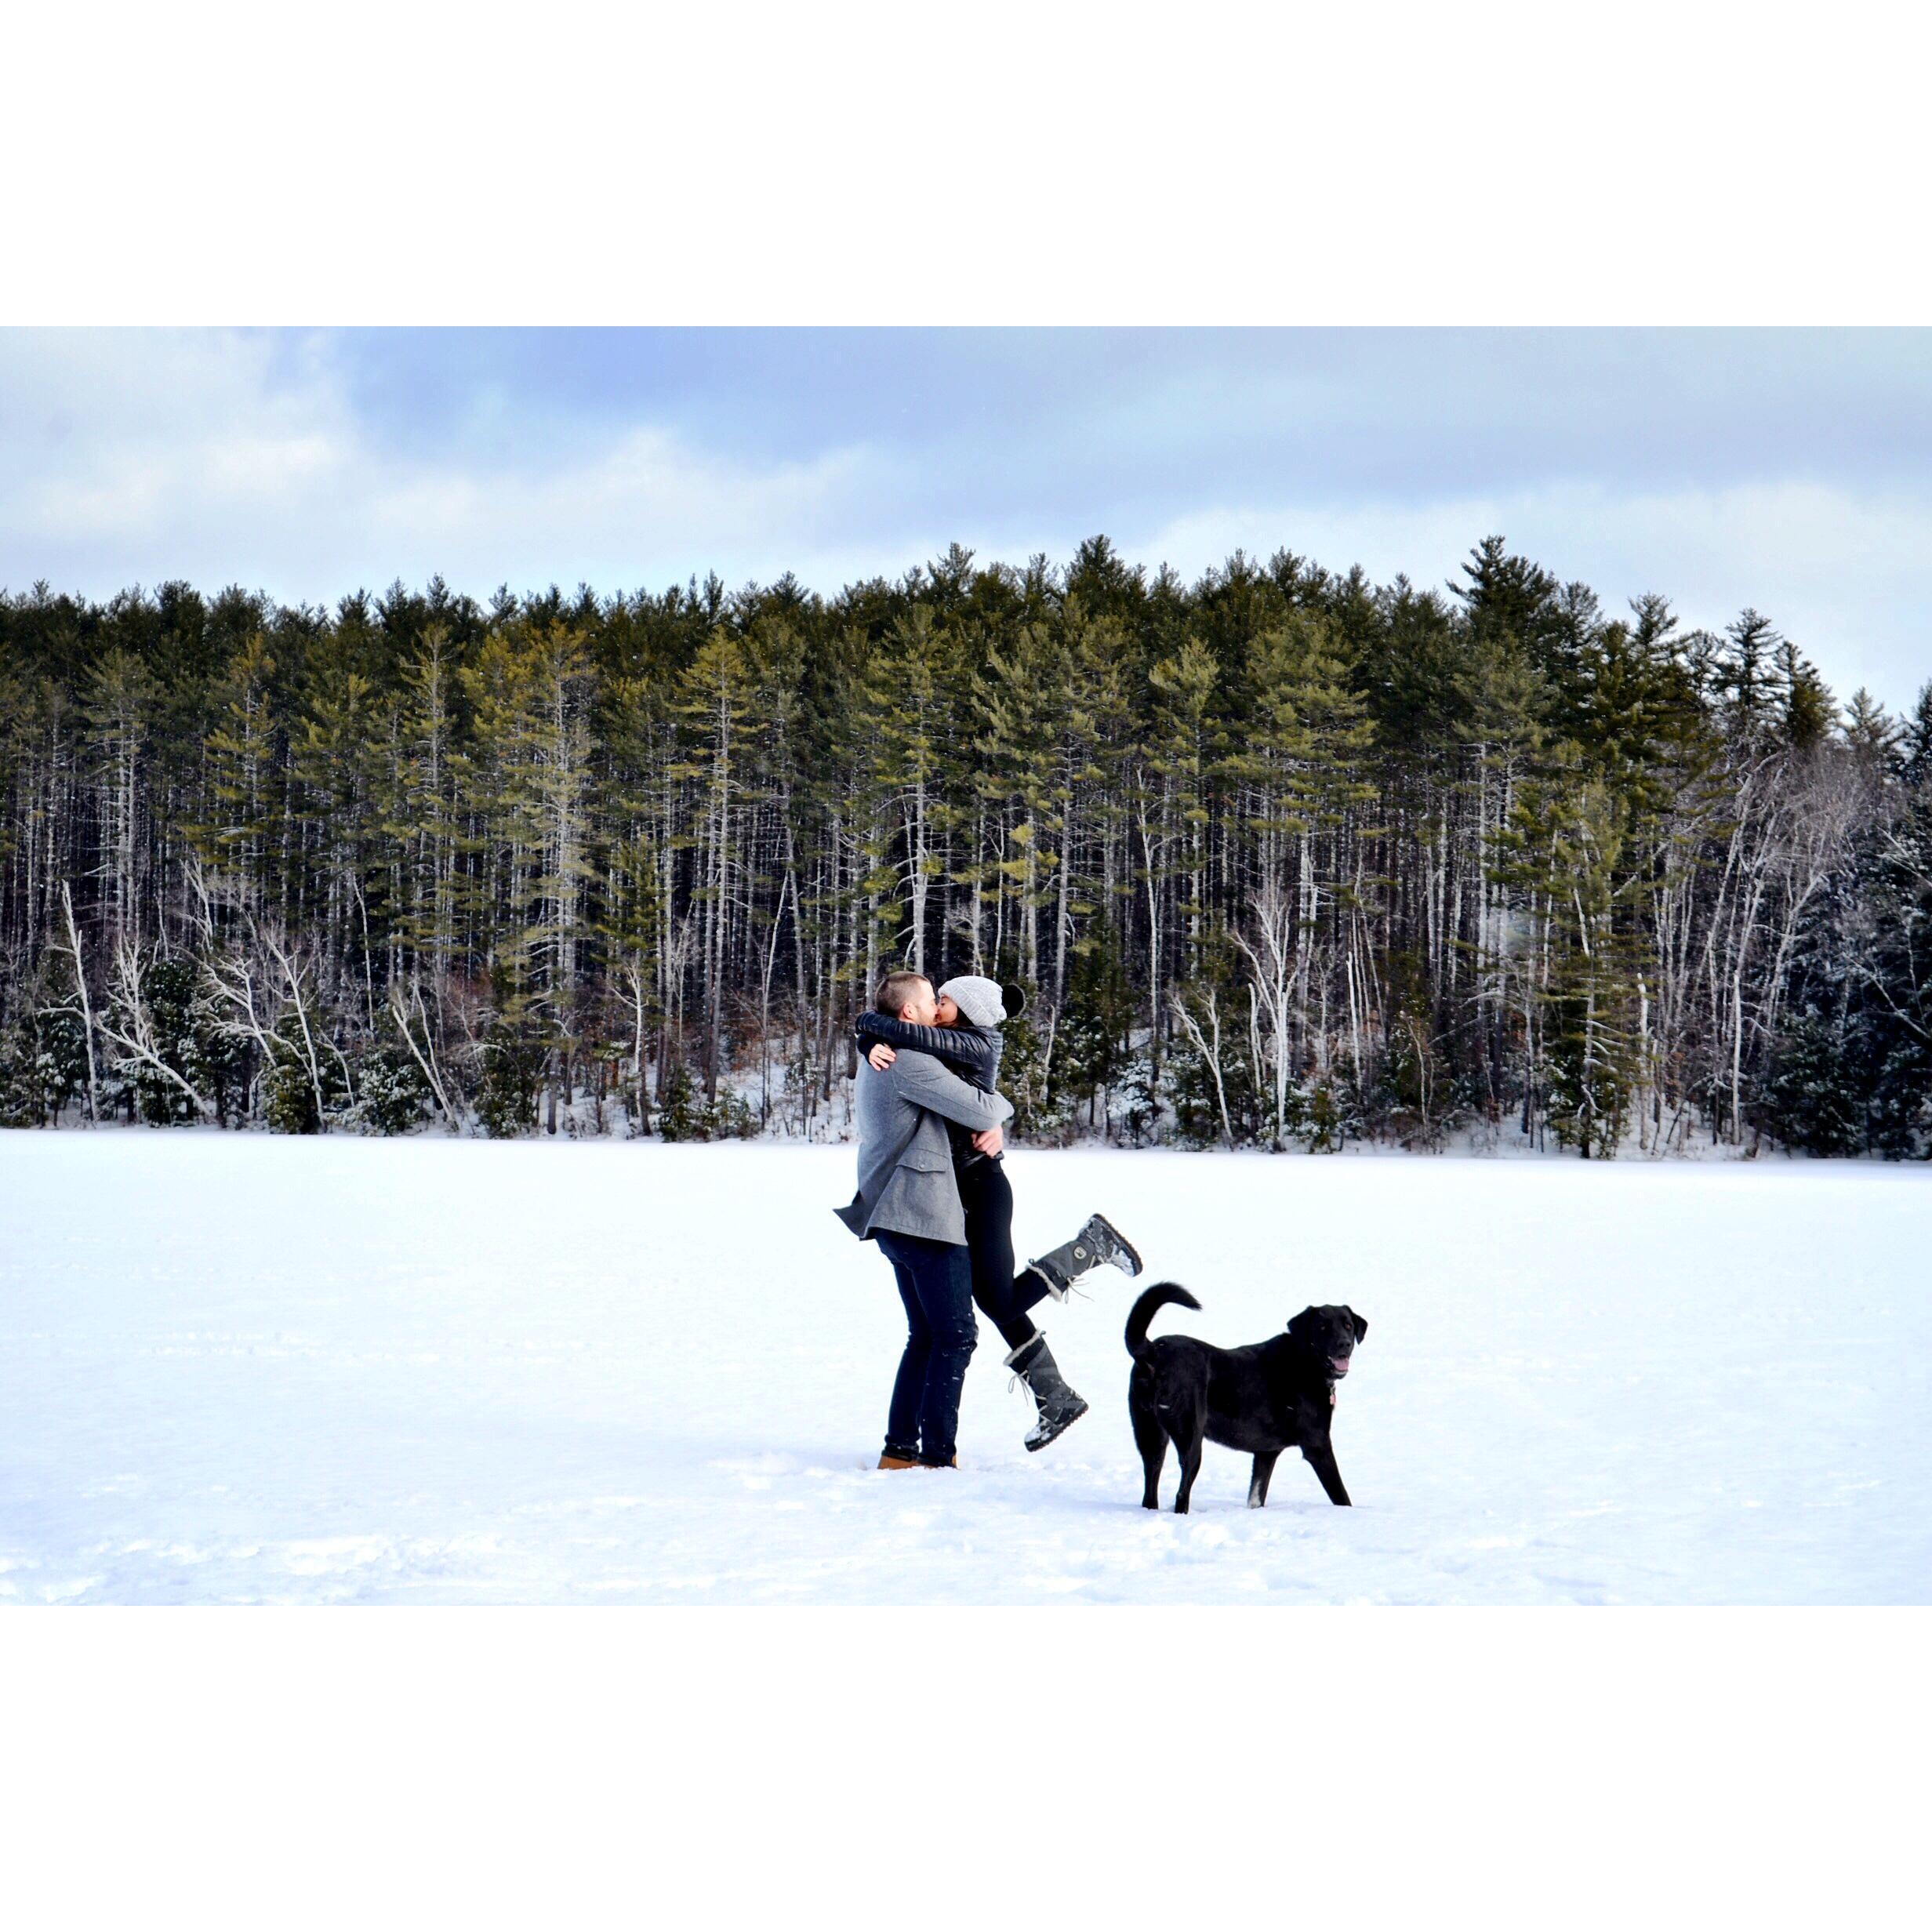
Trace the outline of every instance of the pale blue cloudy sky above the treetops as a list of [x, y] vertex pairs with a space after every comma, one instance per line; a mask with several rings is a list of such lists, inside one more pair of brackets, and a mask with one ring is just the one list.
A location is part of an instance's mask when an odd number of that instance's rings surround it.
[[837, 593], [1095, 533], [1418, 585], [1501, 533], [1609, 612], [1756, 607], [1901, 709], [1932, 330], [0, 330], [14, 591]]

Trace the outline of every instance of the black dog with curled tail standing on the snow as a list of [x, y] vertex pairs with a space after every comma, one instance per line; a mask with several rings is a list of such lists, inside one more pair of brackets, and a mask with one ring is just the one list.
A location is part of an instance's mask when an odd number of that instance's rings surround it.
[[1179, 1283], [1163, 1281], [1134, 1302], [1126, 1318], [1126, 1352], [1134, 1374], [1126, 1406], [1134, 1418], [1134, 1443], [1148, 1470], [1144, 1509], [1161, 1507], [1161, 1464], [1167, 1439], [1180, 1451], [1180, 1493], [1175, 1515], [1188, 1513], [1202, 1443], [1246, 1449], [1254, 1457], [1248, 1507], [1267, 1501], [1267, 1478], [1283, 1449], [1300, 1449], [1321, 1478], [1331, 1503], [1347, 1505], [1349, 1492], [1335, 1468], [1329, 1424], [1335, 1416], [1335, 1383], [1349, 1374], [1354, 1345], [1368, 1323], [1352, 1308], [1304, 1308], [1285, 1335], [1246, 1349], [1211, 1349], [1192, 1335], [1148, 1341], [1148, 1323], [1169, 1302], [1200, 1308]]

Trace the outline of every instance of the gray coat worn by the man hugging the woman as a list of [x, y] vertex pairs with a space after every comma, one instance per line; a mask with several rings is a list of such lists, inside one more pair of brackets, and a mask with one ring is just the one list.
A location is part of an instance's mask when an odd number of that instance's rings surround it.
[[999, 1094], [981, 1094], [929, 1053], [900, 1053], [881, 1074], [858, 1063], [858, 1194], [835, 1213], [860, 1240], [881, 1227], [925, 1240], [966, 1242], [947, 1121], [980, 1132], [1012, 1119]]

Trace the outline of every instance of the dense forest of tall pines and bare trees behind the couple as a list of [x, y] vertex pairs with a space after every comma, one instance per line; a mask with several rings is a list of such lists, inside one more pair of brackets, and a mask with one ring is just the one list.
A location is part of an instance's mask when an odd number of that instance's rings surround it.
[[0, 597], [0, 1117], [837, 1130], [1024, 981], [1032, 1138], [1932, 1151], [1932, 686], [1103, 537], [835, 599]]

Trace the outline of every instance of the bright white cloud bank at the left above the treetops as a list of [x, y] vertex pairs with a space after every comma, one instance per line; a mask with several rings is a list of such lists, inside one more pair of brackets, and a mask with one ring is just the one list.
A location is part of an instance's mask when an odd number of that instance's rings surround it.
[[[858, 554], [902, 464], [864, 444], [726, 458], [653, 423], [398, 452], [327, 350], [54, 332], [0, 355], [0, 578], [104, 595], [240, 582], [328, 601], [400, 576], [605, 589]], [[508, 444], [508, 446], [506, 446]]]

